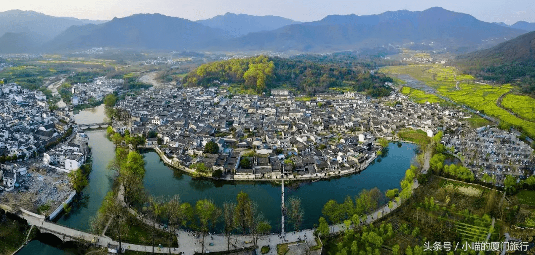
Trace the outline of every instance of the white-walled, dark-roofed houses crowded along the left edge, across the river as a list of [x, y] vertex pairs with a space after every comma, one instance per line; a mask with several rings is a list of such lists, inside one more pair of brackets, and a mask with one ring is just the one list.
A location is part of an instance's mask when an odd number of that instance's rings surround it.
[[[63, 110], [51, 112], [40, 91], [22, 89], [16, 83], [0, 84], [1, 189], [17, 185], [17, 174], [25, 161], [43, 153], [68, 130], [71, 116]], [[17, 165], [22, 164], [22, 165]], [[24, 174], [24, 173], [22, 173]]]

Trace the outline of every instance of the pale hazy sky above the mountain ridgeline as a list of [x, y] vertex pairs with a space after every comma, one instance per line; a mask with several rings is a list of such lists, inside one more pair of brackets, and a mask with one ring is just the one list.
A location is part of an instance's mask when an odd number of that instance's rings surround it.
[[32, 10], [44, 14], [80, 19], [110, 20], [134, 13], [161, 13], [189, 20], [208, 19], [226, 12], [251, 15], [279, 15], [314, 21], [328, 14], [369, 15], [385, 11], [423, 11], [441, 6], [473, 15], [479, 20], [535, 22], [533, 0], [17, 0], [2, 1], [0, 11]]

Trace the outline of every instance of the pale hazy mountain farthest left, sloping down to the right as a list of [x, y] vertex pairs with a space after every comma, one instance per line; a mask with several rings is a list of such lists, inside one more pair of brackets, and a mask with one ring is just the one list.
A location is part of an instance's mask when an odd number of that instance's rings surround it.
[[35, 33], [51, 39], [68, 27], [102, 22], [105, 21], [53, 17], [34, 11], [10, 10], [0, 12], [0, 36], [7, 32]]

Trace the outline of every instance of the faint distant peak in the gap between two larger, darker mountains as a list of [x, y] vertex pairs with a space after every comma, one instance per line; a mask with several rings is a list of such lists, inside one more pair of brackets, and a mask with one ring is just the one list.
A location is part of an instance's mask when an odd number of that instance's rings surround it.
[[232, 36], [242, 36], [251, 32], [269, 31], [287, 25], [301, 23], [299, 21], [282, 18], [279, 16], [255, 16], [248, 14], [234, 14], [227, 12], [225, 15], [217, 15], [211, 19], [197, 20], [204, 26], [220, 28], [228, 31]]

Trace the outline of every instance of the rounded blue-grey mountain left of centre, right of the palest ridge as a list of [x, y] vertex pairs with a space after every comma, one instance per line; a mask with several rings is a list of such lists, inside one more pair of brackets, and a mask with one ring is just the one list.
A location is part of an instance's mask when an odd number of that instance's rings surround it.
[[187, 19], [162, 14], [134, 14], [114, 18], [100, 25], [73, 26], [48, 42], [47, 51], [87, 49], [89, 47], [128, 47], [134, 49], [199, 49], [214, 39], [228, 38], [221, 29], [210, 28]]

